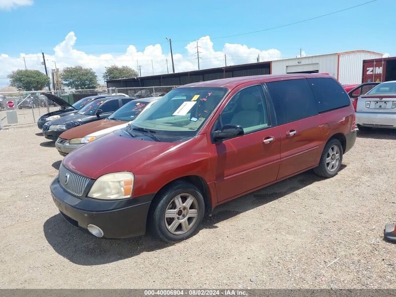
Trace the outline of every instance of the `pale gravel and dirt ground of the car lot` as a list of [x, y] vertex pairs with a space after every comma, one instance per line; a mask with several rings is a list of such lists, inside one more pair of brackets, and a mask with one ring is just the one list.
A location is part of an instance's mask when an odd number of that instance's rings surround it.
[[226, 203], [196, 236], [98, 239], [49, 192], [62, 157], [37, 126], [0, 130], [0, 288], [396, 288], [396, 131], [358, 133], [312, 171]]

